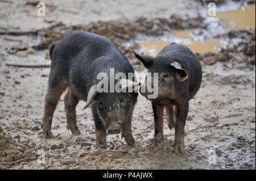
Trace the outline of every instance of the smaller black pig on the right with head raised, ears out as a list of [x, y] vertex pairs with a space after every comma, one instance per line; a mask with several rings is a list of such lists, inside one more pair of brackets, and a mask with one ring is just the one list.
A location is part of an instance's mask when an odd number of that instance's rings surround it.
[[[158, 73], [158, 96], [151, 100], [155, 119], [155, 142], [163, 141], [163, 112], [167, 112], [168, 126], [175, 128], [175, 153], [184, 152], [184, 127], [188, 115], [188, 102], [201, 86], [202, 70], [195, 54], [187, 47], [172, 43], [155, 58], [135, 53], [149, 73]], [[147, 76], [148, 77], [148, 76]], [[146, 77], [146, 78], [147, 78]], [[151, 76], [151, 83], [154, 75]], [[152, 87], [151, 85], [151, 87]], [[146, 91], [142, 91], [143, 89]], [[148, 98], [147, 82], [139, 92]]]

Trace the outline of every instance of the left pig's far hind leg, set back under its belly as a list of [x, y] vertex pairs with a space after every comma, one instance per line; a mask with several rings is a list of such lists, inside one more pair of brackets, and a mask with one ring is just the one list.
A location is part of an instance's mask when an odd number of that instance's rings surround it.
[[79, 103], [79, 99], [76, 95], [72, 94], [71, 90], [68, 90], [64, 97], [65, 111], [67, 116], [67, 129], [70, 129], [72, 134], [79, 135], [80, 131], [76, 124], [76, 105]]

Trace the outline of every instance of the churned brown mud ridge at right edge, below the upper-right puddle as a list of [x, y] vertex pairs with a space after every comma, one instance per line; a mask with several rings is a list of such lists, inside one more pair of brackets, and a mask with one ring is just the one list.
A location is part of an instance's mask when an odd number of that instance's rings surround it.
[[[197, 57], [204, 65], [214, 65], [216, 62], [222, 62], [224, 66], [231, 63], [232, 68], [251, 69], [255, 67], [255, 28], [249, 30], [230, 31], [224, 35], [218, 35], [216, 38], [228, 39], [228, 47], [222, 48], [218, 53], [207, 52], [197, 53]], [[238, 44], [231, 43], [232, 39], [239, 38]]]

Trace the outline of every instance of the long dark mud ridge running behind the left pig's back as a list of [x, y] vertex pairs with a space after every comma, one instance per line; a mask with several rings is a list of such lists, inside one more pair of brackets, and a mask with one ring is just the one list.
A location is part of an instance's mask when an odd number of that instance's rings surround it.
[[[134, 21], [129, 19], [112, 20], [109, 22], [91, 22], [86, 25], [67, 27], [61, 22], [53, 22], [49, 28], [31, 31], [0, 31], [1, 35], [37, 35], [39, 44], [33, 45], [34, 49], [47, 49], [50, 44], [56, 43], [74, 31], [88, 31], [105, 36], [113, 41], [115, 45], [126, 55], [127, 58], [134, 58], [132, 49], [126, 49], [123, 43], [134, 39], [138, 33], [148, 36], [160, 36], [164, 32], [175, 29], [205, 28], [204, 18], [198, 15], [196, 18], [181, 17], [172, 15], [165, 18], [138, 18]], [[9, 53], [16, 53], [19, 50], [26, 50], [29, 47], [2, 47]], [[130, 47], [133, 48], [133, 47]], [[135, 62], [133, 62], [135, 63]], [[135, 63], [136, 64], [136, 63]]]

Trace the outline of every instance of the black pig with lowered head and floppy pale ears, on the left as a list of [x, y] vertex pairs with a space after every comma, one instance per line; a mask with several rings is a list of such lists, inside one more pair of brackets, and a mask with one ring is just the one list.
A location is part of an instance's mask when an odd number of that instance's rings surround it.
[[64, 97], [67, 129], [75, 135], [80, 134], [76, 124], [76, 106], [82, 99], [86, 101], [85, 108], [92, 104], [98, 148], [106, 148], [107, 130], [109, 134], [120, 133], [122, 130], [122, 137], [125, 137], [127, 144], [133, 145], [131, 115], [138, 92], [97, 91], [101, 81], [97, 79], [98, 73], [109, 75], [111, 68], [126, 75], [134, 73], [133, 67], [120, 50], [105, 37], [81, 31], [51, 45], [49, 54], [52, 62], [42, 124], [44, 136], [52, 136], [53, 113], [61, 94], [68, 89]]

